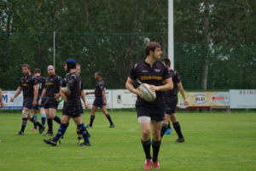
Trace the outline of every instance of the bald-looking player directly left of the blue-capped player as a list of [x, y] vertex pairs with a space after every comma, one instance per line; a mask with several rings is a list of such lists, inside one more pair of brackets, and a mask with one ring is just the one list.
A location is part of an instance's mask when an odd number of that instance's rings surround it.
[[55, 120], [56, 123], [61, 124], [60, 117], [56, 116], [56, 110], [59, 105], [59, 98], [61, 97], [60, 89], [61, 89], [61, 77], [55, 74], [55, 67], [48, 66], [48, 75], [49, 77], [45, 80], [44, 90], [41, 94], [41, 98], [39, 100], [39, 105], [41, 105], [44, 95], [46, 97], [44, 104], [44, 111], [47, 117], [48, 131], [44, 136], [52, 136], [53, 135], [53, 123], [52, 119]]

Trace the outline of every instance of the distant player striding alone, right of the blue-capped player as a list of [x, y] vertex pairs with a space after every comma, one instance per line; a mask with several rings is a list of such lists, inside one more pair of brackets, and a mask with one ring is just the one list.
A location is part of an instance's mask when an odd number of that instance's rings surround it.
[[110, 117], [110, 114], [107, 111], [107, 101], [106, 101], [106, 95], [105, 95], [105, 83], [102, 80], [102, 73], [100, 71], [97, 71], [94, 74], [94, 78], [96, 79], [96, 88], [95, 91], [86, 92], [87, 94], [95, 94], [95, 100], [93, 102], [91, 111], [90, 111], [90, 124], [87, 125], [87, 128], [92, 128], [93, 121], [95, 119], [95, 112], [100, 107], [102, 109], [102, 112], [105, 114], [105, 116], [108, 118], [108, 122], [110, 123], [109, 128], [114, 128], [113, 121]]

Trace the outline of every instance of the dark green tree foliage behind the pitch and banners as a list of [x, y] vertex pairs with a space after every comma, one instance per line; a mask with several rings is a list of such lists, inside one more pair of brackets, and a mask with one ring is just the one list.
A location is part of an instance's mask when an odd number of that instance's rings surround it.
[[[209, 9], [207, 0], [173, 2], [174, 62], [184, 88], [201, 89], [205, 75], [209, 90], [255, 88], [255, 1], [212, 0]], [[107, 88], [125, 88], [148, 41], [159, 42], [167, 56], [167, 7], [167, 0], [0, 0], [1, 87], [17, 87], [23, 63], [47, 76], [55, 31], [57, 74], [64, 77], [63, 61], [74, 58], [85, 88], [94, 88], [95, 71], [102, 71]]]

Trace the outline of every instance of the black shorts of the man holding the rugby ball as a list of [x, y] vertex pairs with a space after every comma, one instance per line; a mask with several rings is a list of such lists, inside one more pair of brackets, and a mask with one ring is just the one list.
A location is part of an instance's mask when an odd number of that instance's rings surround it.
[[137, 117], [151, 117], [151, 120], [161, 122], [165, 120], [165, 105], [163, 102], [136, 102]]

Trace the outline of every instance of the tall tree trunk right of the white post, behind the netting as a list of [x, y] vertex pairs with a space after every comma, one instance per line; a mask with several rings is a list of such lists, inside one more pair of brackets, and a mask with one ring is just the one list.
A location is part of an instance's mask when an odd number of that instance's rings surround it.
[[209, 1], [205, 0], [205, 44], [206, 44], [206, 58], [203, 66], [201, 88], [207, 89], [207, 78], [209, 69], [209, 45], [210, 45], [210, 32], [209, 32]]

